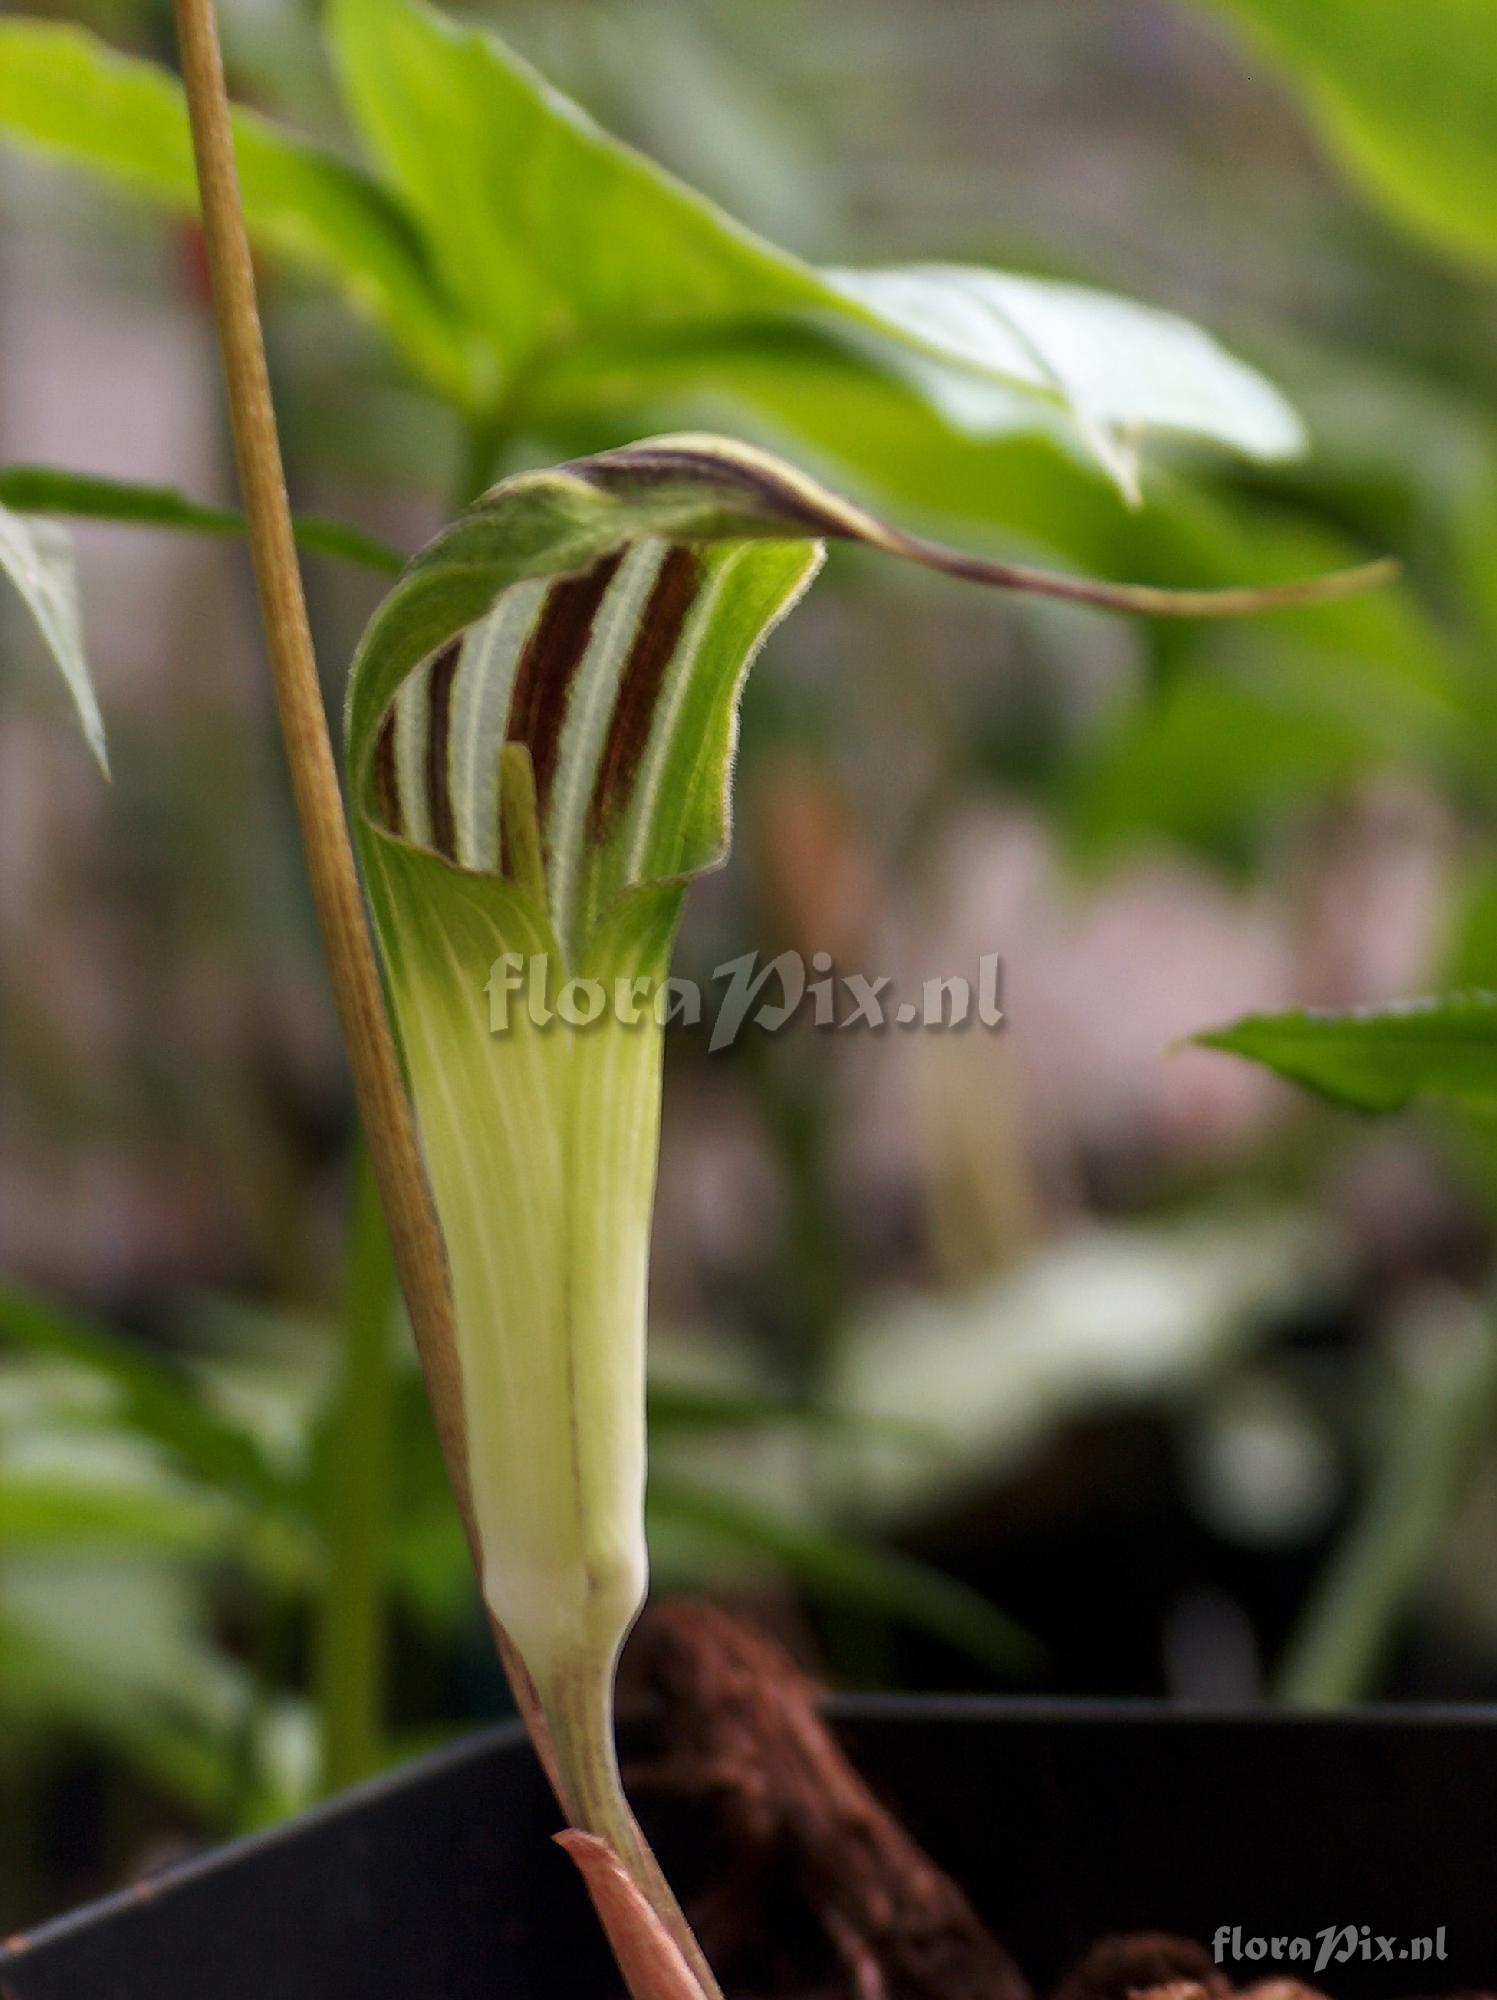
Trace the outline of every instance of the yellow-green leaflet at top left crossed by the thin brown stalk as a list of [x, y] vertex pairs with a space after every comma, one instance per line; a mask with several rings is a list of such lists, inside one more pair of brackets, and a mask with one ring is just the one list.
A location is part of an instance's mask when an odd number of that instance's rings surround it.
[[[180, 214], [198, 212], [178, 80], [82, 28], [0, 22], [0, 132]], [[384, 190], [252, 112], [236, 114], [234, 140], [256, 240], [330, 278], [422, 380], [470, 404], [470, 342]]]

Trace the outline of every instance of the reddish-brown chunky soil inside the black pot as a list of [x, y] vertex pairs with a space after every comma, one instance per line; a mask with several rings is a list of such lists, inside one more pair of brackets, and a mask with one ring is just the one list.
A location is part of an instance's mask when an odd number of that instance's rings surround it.
[[[698, 1860], [708, 1886], [688, 1914], [728, 2000], [1037, 2000], [847, 1762], [819, 1716], [823, 1690], [775, 1640], [666, 1602], [640, 1624], [630, 1666], [654, 1694], [656, 1732], [626, 1778], [666, 1846]], [[1287, 1978], [1239, 1988], [1205, 1946], [1135, 1934], [1101, 1938], [1039, 2000], [1325, 1996]]]

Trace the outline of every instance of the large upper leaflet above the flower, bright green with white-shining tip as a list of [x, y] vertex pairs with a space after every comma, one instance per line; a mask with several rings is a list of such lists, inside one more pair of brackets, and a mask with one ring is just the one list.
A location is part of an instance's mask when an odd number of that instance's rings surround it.
[[1065, 414], [1133, 484], [1157, 428], [1277, 458], [1297, 418], [1171, 314], [967, 266], [815, 270], [600, 132], [496, 36], [418, 0], [332, 0], [348, 108], [520, 406], [610, 342], [821, 328], [973, 436]]

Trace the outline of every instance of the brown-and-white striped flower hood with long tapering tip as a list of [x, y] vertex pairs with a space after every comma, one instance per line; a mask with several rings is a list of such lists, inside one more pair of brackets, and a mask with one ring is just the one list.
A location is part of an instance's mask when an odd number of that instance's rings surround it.
[[656, 438], [506, 480], [412, 566], [412, 588], [442, 564], [478, 574], [482, 546], [510, 580], [386, 694], [362, 772], [374, 824], [456, 868], [506, 876], [500, 752], [520, 744], [548, 914], [574, 964], [622, 892], [720, 858], [742, 674], [827, 540], [1151, 616], [1293, 606], [1381, 574], [1207, 592], [1057, 576], [905, 534], [751, 446]]

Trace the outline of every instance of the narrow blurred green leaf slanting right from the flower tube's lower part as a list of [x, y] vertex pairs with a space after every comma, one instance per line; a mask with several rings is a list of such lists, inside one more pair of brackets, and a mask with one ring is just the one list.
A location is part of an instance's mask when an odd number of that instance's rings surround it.
[[650, 1480], [650, 1516], [769, 1556], [815, 1596], [921, 1626], [999, 1674], [1039, 1656], [1035, 1638], [985, 1596], [925, 1562], [680, 1478]]

